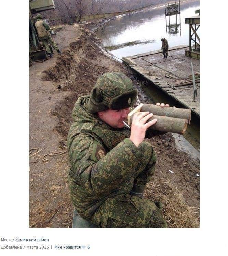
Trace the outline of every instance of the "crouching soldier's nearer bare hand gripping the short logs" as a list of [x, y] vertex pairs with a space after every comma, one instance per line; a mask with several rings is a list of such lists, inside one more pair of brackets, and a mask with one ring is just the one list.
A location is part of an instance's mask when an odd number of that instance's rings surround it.
[[129, 139], [135, 144], [136, 147], [138, 147], [139, 144], [143, 142], [146, 135], [146, 130], [157, 122], [157, 119], [153, 119], [146, 123], [152, 116], [153, 114], [149, 111], [137, 112], [133, 115], [131, 135]]

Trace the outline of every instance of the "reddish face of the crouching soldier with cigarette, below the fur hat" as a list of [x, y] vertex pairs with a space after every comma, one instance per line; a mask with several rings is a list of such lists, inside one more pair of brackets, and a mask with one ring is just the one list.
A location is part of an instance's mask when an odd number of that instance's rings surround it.
[[126, 120], [129, 112], [129, 107], [120, 110], [108, 109], [104, 111], [99, 111], [98, 116], [100, 119], [102, 119], [102, 121], [104, 121], [113, 128], [123, 128], [123, 121]]

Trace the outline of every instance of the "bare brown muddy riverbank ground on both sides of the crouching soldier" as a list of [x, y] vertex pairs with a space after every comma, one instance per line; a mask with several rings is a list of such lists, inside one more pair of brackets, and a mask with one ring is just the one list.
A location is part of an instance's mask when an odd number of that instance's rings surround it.
[[[104, 54], [90, 26], [65, 25], [53, 39], [64, 54], [55, 52], [52, 59], [30, 67], [30, 227], [70, 228], [73, 205], [67, 184], [66, 140], [75, 101], [89, 94], [96, 79], [105, 72], [128, 75], [143, 103], [147, 97], [141, 87], [146, 82]], [[158, 160], [146, 197], [164, 201], [163, 213], [170, 226], [199, 226], [199, 160], [178, 150], [171, 133], [150, 142]], [[171, 209], [179, 212], [178, 206], [174, 206], [178, 200], [188, 212], [190, 224], [170, 213]]]

